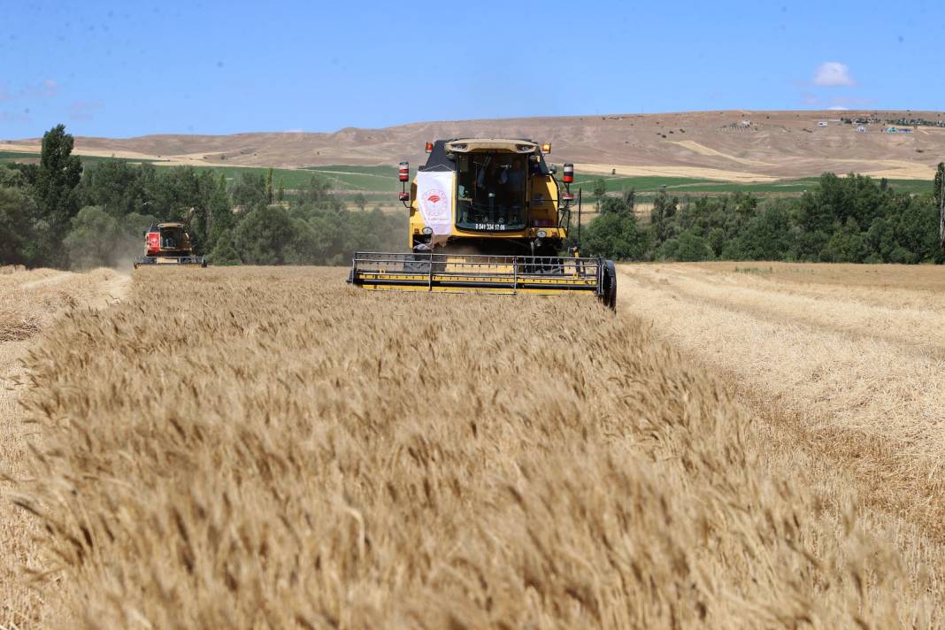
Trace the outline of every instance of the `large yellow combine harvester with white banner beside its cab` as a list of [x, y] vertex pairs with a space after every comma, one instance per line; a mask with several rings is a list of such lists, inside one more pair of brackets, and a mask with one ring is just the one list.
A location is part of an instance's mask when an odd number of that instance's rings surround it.
[[579, 292], [616, 308], [613, 261], [560, 256], [580, 195], [574, 165], [544, 160], [551, 145], [530, 140], [457, 138], [427, 143], [410, 183], [401, 162], [400, 199], [410, 211], [409, 252], [356, 252], [348, 281], [373, 290], [451, 293]]

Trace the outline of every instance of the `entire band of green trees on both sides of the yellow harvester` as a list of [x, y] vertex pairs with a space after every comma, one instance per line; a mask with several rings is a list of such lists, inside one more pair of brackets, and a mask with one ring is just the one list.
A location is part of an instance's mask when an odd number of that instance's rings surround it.
[[[104, 160], [86, 168], [60, 125], [43, 135], [40, 162], [0, 164], [0, 264], [87, 268], [127, 265], [152, 223], [188, 225], [212, 264], [348, 264], [355, 249], [404, 248], [406, 214], [349, 211], [313, 175], [285, 200], [282, 182], [247, 170], [232, 181], [210, 169]], [[945, 165], [925, 195], [827, 173], [799, 198], [747, 193], [683, 198], [662, 190], [649, 222], [636, 194], [604, 196], [582, 252], [624, 261], [765, 260], [942, 263], [938, 208]], [[575, 235], [576, 230], [572, 230]]]

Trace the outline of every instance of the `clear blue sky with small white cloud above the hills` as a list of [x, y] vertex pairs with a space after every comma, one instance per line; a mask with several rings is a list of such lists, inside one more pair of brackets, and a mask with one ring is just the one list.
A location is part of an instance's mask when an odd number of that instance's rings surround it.
[[941, 0], [0, 0], [0, 138], [945, 109]]

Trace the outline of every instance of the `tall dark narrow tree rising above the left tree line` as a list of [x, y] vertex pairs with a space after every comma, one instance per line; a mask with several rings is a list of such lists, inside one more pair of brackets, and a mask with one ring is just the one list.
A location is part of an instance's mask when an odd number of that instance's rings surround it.
[[43, 149], [40, 168], [33, 186], [39, 218], [43, 221], [38, 230], [39, 256], [46, 264], [61, 264], [64, 256], [60, 242], [69, 230], [72, 217], [78, 212], [76, 187], [82, 177], [82, 164], [72, 155], [75, 140], [65, 132], [64, 125], [57, 125], [43, 134]]

